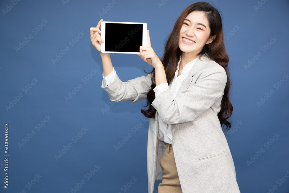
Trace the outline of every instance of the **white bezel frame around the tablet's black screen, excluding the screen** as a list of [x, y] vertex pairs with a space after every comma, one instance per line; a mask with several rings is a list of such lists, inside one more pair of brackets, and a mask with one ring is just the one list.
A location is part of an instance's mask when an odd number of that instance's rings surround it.
[[147, 23], [137, 22], [113, 22], [103, 21], [101, 22], [101, 38], [104, 40], [100, 45], [100, 52], [102, 53], [121, 53], [121, 54], [139, 54], [140, 52], [105, 52], [105, 23], [128, 23], [128, 24], [142, 24], [142, 46], [147, 46]]

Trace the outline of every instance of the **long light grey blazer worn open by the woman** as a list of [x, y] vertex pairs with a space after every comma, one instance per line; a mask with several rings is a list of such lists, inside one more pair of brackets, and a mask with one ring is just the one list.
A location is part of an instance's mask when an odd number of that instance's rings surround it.
[[[151, 74], [122, 82], [118, 76], [103, 88], [112, 101], [137, 102], [147, 97]], [[172, 124], [175, 162], [183, 193], [240, 192], [234, 162], [218, 120], [227, 82], [223, 67], [207, 57], [197, 60], [175, 99], [168, 89], [152, 102], [157, 110], [149, 120], [147, 143], [148, 190], [162, 180], [160, 158], [165, 145], [158, 139], [158, 116]]]

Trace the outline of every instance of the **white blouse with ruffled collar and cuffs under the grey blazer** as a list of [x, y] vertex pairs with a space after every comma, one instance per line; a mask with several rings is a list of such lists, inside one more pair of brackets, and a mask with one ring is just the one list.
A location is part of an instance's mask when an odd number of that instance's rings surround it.
[[[170, 84], [170, 86], [168, 86], [168, 83], [162, 83], [158, 86], [156, 86], [153, 91], [155, 92], [155, 97], [157, 97], [160, 93], [170, 89], [173, 98], [175, 98], [175, 96], [177, 95], [177, 91], [179, 90], [179, 87], [181, 86], [181, 83], [183, 82], [183, 80], [185, 80], [185, 78], [188, 76], [188, 73], [190, 72], [190, 70], [192, 69], [193, 65], [197, 62], [199, 57], [197, 57], [196, 59], [190, 61], [189, 63], [187, 63], [184, 67], [183, 70], [181, 71], [181, 75], [178, 76], [178, 72], [179, 72], [179, 65], [181, 62], [181, 57], [180, 60], [178, 62], [178, 66], [177, 66], [177, 70], [175, 72], [175, 76]], [[102, 72], [102, 77], [103, 77], [103, 72]], [[113, 82], [113, 80], [116, 78], [116, 71], [113, 68], [112, 72], [106, 76], [104, 79], [104, 83], [109, 85]], [[161, 141], [164, 141], [165, 143], [168, 144], [173, 144], [172, 141], [172, 126], [171, 124], [164, 124], [160, 118], [160, 116], [158, 115], [158, 123], [159, 123], [159, 130], [158, 130], [158, 139], [160, 139]]]

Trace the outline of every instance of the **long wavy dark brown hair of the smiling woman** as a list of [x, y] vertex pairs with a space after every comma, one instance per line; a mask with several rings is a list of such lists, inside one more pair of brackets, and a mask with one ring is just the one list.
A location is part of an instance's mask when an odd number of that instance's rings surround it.
[[[170, 85], [171, 81], [175, 76], [177, 64], [182, 53], [182, 51], [179, 49], [180, 30], [186, 16], [188, 16], [188, 14], [190, 14], [193, 11], [204, 12], [206, 18], [208, 19], [211, 31], [210, 37], [216, 34], [216, 38], [212, 41], [212, 43], [205, 44], [203, 50], [199, 53], [198, 56], [199, 58], [201, 58], [202, 56], [207, 56], [211, 60], [214, 60], [216, 63], [221, 65], [227, 73], [227, 83], [224, 89], [224, 95], [221, 102], [221, 110], [218, 113], [218, 119], [220, 121], [221, 126], [224, 125], [226, 126], [227, 130], [229, 130], [231, 128], [231, 123], [229, 123], [227, 119], [231, 117], [233, 112], [233, 106], [229, 101], [229, 90], [231, 86], [228, 69], [229, 56], [226, 52], [224, 45], [221, 15], [219, 14], [218, 10], [214, 8], [210, 3], [207, 2], [194, 3], [188, 6], [177, 19], [171, 34], [166, 38], [165, 51], [164, 55], [161, 58], [162, 64], [164, 65], [164, 70], [166, 72], [166, 79], [168, 85]], [[144, 114], [145, 117], [152, 118], [155, 117], [156, 113], [156, 109], [151, 105], [153, 100], [155, 100], [155, 92], [153, 91], [153, 89], [155, 88], [155, 69], [153, 68], [153, 70], [149, 73], [152, 73], [151, 82], [153, 84], [151, 84], [151, 89], [147, 93], [147, 104], [146, 106], [144, 106], [144, 107], [149, 106], [149, 108], [142, 109], [141, 113]]]

